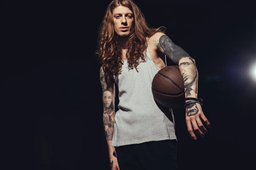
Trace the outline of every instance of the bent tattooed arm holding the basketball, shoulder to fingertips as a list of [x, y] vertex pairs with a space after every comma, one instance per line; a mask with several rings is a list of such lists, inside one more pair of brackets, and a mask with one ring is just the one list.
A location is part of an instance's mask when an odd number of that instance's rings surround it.
[[[166, 34], [156, 33], [153, 37], [153, 42], [157, 51], [162, 52], [175, 64], [179, 65], [184, 82], [185, 97], [197, 98], [198, 71], [195, 65], [195, 59], [173, 43]], [[186, 102], [188, 101], [189, 100], [186, 100]], [[186, 107], [186, 124], [190, 136], [194, 140], [196, 140], [196, 136], [193, 130], [201, 137], [204, 136], [204, 133], [207, 133], [207, 129], [202, 124], [201, 119], [210, 127], [210, 123], [204, 116], [200, 104], [194, 103]]]

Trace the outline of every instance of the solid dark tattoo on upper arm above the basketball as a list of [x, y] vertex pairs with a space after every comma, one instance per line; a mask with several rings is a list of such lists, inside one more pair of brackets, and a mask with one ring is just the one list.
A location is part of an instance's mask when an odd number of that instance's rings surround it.
[[182, 48], [172, 42], [167, 35], [162, 35], [154, 44], [175, 64], [179, 64], [179, 60], [183, 57], [190, 57]]

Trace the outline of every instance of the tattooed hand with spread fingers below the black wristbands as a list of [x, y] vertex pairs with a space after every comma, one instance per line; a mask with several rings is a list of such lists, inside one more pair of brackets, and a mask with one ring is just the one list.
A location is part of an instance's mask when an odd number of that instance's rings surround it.
[[202, 107], [199, 103], [193, 103], [186, 106], [186, 124], [190, 136], [194, 140], [197, 139], [194, 131], [201, 137], [204, 137], [204, 134], [207, 133], [207, 129], [204, 127], [200, 118], [204, 120], [207, 127], [211, 127], [210, 122], [204, 116]]

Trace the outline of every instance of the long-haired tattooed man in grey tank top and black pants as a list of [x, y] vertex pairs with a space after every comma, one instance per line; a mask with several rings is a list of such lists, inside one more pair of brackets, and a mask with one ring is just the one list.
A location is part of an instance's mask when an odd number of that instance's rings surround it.
[[[101, 62], [103, 125], [111, 170], [177, 170], [177, 138], [172, 109], [154, 100], [151, 83], [169, 57], [179, 66], [185, 97], [197, 98], [195, 59], [160, 28], [149, 28], [132, 0], [113, 0], [99, 29], [96, 51]], [[118, 111], [115, 93], [118, 92]], [[186, 101], [189, 102], [189, 101]], [[210, 123], [199, 103], [186, 106], [192, 139], [204, 136]]]

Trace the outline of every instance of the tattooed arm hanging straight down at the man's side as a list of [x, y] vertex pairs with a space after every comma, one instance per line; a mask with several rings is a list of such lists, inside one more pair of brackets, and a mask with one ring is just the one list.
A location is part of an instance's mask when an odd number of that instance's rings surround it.
[[115, 122], [115, 84], [113, 76], [107, 75], [103, 68], [100, 68], [100, 83], [102, 85], [102, 102], [103, 102], [103, 128], [108, 144], [109, 160], [111, 170], [119, 170], [116, 159], [115, 147], [111, 146], [114, 122]]

